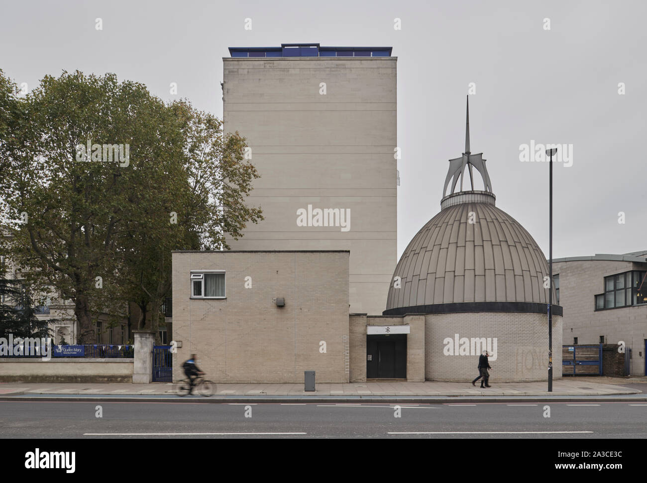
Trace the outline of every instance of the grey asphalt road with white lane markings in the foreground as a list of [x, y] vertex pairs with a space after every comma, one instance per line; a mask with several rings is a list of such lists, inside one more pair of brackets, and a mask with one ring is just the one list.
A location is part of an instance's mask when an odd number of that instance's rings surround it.
[[403, 404], [400, 411], [395, 417], [393, 404], [359, 403], [1, 401], [0, 437], [647, 438], [647, 403]]

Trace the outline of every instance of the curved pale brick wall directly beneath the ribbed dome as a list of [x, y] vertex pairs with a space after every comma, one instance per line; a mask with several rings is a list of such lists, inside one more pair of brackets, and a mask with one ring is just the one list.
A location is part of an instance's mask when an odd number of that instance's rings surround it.
[[[545, 314], [427, 314], [427, 380], [470, 381], [478, 375], [474, 355], [444, 355], [445, 338], [497, 338], [497, 358], [490, 358], [491, 382], [542, 381], [548, 378], [548, 324]], [[475, 347], [476, 348], [476, 347]], [[493, 348], [493, 347], [492, 347]], [[470, 347], [471, 349], [471, 347]], [[470, 351], [471, 352], [471, 351]], [[562, 377], [562, 317], [553, 315], [553, 378]]]

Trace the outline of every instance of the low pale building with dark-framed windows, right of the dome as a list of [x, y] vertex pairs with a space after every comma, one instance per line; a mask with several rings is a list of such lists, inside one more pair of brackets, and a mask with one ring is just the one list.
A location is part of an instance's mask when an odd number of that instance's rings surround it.
[[556, 258], [553, 273], [564, 344], [620, 344], [630, 374], [645, 375], [647, 251]]

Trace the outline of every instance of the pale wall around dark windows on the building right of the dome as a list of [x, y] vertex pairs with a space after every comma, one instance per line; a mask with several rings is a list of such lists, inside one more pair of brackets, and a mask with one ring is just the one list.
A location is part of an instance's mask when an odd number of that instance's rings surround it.
[[645, 375], [644, 344], [647, 338], [647, 305], [595, 310], [595, 295], [604, 293], [604, 277], [631, 270], [644, 270], [644, 264], [615, 260], [575, 260], [553, 263], [560, 276], [560, 305], [564, 307], [564, 343], [607, 344], [624, 341], [632, 349], [630, 373]]

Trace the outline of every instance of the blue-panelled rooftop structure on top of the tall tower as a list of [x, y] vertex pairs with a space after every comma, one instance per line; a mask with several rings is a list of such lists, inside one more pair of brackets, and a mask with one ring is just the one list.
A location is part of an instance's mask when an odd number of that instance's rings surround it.
[[281, 44], [280, 47], [230, 47], [232, 57], [391, 57], [393, 47], [322, 47]]

